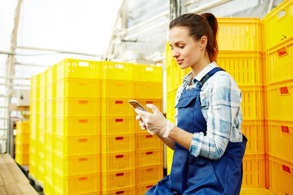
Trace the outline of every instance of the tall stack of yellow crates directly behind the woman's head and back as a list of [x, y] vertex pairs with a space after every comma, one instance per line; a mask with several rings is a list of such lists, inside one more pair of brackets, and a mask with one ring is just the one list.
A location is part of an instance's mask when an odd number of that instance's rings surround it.
[[[265, 187], [265, 116], [262, 25], [255, 18], [218, 18], [219, 54], [217, 63], [237, 82], [242, 91], [242, 132], [248, 138], [243, 159], [243, 188]], [[167, 117], [175, 115], [174, 103], [183, 77], [190, 71], [180, 70], [172, 59], [167, 43]], [[168, 65], [169, 64], [169, 65]], [[173, 151], [167, 151], [168, 173]]]

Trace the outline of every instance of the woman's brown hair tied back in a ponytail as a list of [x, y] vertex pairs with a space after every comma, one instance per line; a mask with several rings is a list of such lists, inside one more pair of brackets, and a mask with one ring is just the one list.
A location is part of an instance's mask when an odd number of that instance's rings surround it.
[[172, 20], [169, 24], [169, 29], [173, 27], [187, 27], [189, 35], [196, 41], [203, 36], [208, 38], [207, 52], [210, 61], [216, 61], [218, 55], [218, 21], [211, 13], [184, 14]]

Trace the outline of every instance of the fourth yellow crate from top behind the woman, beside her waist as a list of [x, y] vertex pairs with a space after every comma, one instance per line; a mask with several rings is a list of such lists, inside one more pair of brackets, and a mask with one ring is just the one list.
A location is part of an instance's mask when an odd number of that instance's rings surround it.
[[243, 120], [242, 133], [247, 137], [246, 155], [264, 154], [265, 151], [265, 121]]

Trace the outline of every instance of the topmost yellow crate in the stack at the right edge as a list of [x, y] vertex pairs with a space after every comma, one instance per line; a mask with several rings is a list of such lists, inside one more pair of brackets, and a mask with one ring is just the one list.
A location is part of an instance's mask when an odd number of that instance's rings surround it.
[[265, 16], [267, 49], [272, 49], [293, 38], [293, 26], [290, 25], [292, 23], [293, 2], [292, 0], [284, 0]]

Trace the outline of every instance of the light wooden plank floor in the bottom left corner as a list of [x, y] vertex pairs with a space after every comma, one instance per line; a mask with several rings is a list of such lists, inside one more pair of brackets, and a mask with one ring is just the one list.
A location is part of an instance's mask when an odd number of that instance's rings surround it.
[[9, 154], [0, 154], [0, 195], [39, 195]]

